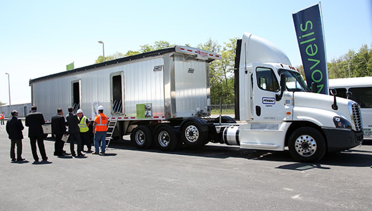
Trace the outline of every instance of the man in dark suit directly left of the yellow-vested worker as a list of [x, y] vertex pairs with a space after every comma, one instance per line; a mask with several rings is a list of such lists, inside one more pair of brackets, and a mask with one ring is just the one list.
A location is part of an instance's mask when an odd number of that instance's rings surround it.
[[76, 116], [73, 114], [73, 108], [70, 106], [68, 107], [68, 115], [66, 115], [67, 125], [68, 125], [68, 133], [70, 134], [68, 139], [70, 140], [70, 150], [71, 155], [76, 156], [74, 150], [74, 142], [77, 142], [77, 156], [82, 157], [84, 154], [81, 153], [81, 139], [80, 139], [80, 128], [78, 123], [80, 122]]

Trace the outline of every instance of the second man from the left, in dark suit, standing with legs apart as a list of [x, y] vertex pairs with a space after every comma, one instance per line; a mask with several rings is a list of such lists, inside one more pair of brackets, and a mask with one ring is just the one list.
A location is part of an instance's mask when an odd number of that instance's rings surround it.
[[42, 160], [48, 161], [44, 146], [44, 131], [41, 126], [44, 124], [45, 120], [42, 113], [36, 112], [36, 106], [31, 106], [31, 113], [26, 115], [25, 125], [28, 126], [28, 137], [30, 138], [32, 156], [35, 162], [39, 162], [38, 153], [36, 152], [36, 141], [38, 142]]

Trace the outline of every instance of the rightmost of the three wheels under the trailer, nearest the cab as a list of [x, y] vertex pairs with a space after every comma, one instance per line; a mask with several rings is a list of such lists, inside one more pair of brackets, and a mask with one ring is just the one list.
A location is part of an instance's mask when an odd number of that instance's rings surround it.
[[202, 132], [201, 125], [194, 121], [186, 122], [181, 128], [180, 135], [182, 142], [192, 148], [206, 144], [206, 139], [208, 139], [208, 131]]

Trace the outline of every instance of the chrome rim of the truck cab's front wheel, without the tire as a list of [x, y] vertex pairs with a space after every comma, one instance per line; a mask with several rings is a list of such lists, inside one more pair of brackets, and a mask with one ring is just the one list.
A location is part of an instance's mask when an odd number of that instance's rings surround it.
[[309, 157], [317, 151], [317, 142], [310, 135], [300, 135], [296, 138], [295, 149], [299, 155]]

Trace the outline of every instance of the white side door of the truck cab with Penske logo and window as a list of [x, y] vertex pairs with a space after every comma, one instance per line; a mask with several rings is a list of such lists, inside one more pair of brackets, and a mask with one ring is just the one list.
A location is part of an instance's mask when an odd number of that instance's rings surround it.
[[253, 121], [278, 122], [285, 118], [283, 98], [276, 101], [280, 94], [278, 75], [275, 67], [253, 64]]

